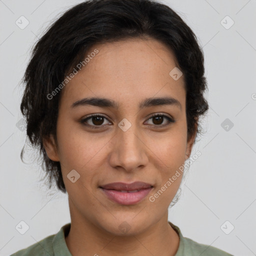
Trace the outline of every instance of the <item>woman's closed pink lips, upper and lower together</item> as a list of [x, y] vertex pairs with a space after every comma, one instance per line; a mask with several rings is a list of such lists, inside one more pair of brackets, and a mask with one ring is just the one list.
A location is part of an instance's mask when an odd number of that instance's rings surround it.
[[[141, 181], [130, 184], [114, 182], [100, 186], [109, 199], [123, 205], [135, 204], [141, 201], [151, 191], [152, 187], [152, 185]], [[139, 191], [131, 192], [132, 190]]]

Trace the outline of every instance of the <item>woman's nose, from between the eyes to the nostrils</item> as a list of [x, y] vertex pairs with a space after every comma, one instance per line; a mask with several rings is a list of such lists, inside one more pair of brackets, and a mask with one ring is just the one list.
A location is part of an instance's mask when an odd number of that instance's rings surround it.
[[[121, 126], [120, 126], [121, 127]], [[119, 126], [113, 137], [112, 148], [109, 153], [109, 164], [113, 168], [123, 169], [127, 172], [137, 171], [146, 166], [148, 152], [145, 138], [143, 139], [135, 124], [126, 131]]]

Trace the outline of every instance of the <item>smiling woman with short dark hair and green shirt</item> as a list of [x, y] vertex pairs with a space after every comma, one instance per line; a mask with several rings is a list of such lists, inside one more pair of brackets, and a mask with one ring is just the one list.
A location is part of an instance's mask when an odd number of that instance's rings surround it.
[[13, 255], [230, 255], [168, 222], [208, 108], [203, 75], [194, 33], [164, 4], [91, 0], [58, 18], [20, 107], [71, 223]]

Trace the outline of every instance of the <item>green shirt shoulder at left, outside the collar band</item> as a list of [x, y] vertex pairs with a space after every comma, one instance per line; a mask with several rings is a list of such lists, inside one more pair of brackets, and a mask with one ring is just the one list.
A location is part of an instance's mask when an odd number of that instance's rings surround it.
[[15, 253], [11, 254], [10, 256], [45, 256], [45, 255], [53, 255], [53, 248], [52, 248], [52, 240], [55, 234], [49, 235], [40, 241], [33, 243], [32, 245], [20, 249]]

